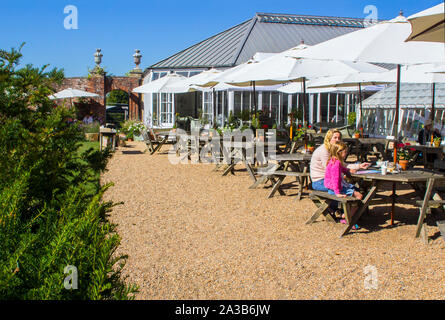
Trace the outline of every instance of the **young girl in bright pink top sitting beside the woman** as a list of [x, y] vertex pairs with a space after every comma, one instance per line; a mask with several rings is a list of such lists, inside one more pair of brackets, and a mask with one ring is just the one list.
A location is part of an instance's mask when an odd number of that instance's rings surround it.
[[[349, 175], [350, 171], [346, 168], [344, 163], [348, 155], [348, 147], [342, 141], [338, 141], [331, 145], [329, 149], [329, 161], [326, 166], [324, 185], [328, 188], [329, 194], [335, 194], [339, 198], [345, 198], [346, 196], [356, 197], [362, 199], [363, 195], [358, 192], [353, 184], [347, 183], [344, 180], [344, 175]], [[355, 212], [352, 213], [352, 215]], [[346, 223], [344, 215], [342, 216], [341, 223]], [[358, 229], [358, 226], [355, 226]]]

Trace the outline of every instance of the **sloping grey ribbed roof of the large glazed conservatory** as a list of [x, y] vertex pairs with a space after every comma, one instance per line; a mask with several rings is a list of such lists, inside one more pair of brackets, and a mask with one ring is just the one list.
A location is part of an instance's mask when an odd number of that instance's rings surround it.
[[237, 26], [201, 41], [149, 69], [233, 67], [256, 52], [282, 52], [317, 43], [364, 27], [364, 19], [257, 13]]

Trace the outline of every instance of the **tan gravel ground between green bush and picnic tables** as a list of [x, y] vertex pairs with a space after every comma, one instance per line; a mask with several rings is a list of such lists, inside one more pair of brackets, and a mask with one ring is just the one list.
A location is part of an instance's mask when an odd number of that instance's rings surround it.
[[[166, 153], [144, 150], [141, 142], [120, 147], [102, 178], [115, 183], [105, 200], [124, 201], [111, 220], [119, 253], [129, 255], [125, 274], [140, 286], [137, 299], [445, 297], [445, 242], [414, 238], [414, 207], [396, 212], [396, 227], [389, 206], [375, 207], [361, 230], [339, 238], [344, 225], [304, 224], [315, 209], [309, 199], [249, 190], [241, 166], [222, 177], [213, 165], [172, 165]], [[376, 289], [365, 289], [367, 266], [377, 271]]]

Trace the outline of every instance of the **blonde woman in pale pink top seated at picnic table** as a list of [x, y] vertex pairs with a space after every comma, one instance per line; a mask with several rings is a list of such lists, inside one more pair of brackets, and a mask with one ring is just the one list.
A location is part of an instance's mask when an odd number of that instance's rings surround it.
[[[310, 174], [312, 180], [312, 189], [318, 191], [328, 191], [328, 188], [324, 185], [326, 166], [330, 159], [329, 149], [331, 145], [341, 141], [341, 132], [337, 129], [331, 129], [326, 132], [324, 143], [315, 149], [311, 158]], [[347, 168], [351, 170], [351, 173], [360, 169], [367, 169], [371, 164], [364, 162], [360, 164], [349, 164]], [[334, 203], [336, 205], [336, 203]]]

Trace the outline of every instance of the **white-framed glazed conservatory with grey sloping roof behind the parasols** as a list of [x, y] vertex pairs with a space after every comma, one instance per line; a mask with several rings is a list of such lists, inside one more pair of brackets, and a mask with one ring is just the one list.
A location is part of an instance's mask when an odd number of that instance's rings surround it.
[[[170, 72], [191, 77], [210, 68], [226, 70], [252, 58], [261, 60], [267, 53], [285, 51], [302, 41], [315, 45], [360, 28], [364, 28], [364, 19], [257, 13], [252, 19], [148, 67], [143, 83]], [[239, 87], [181, 94], [144, 94], [143, 119], [153, 128], [171, 128], [176, 114], [223, 125], [230, 113], [241, 117], [246, 110], [252, 110], [256, 101], [258, 109], [266, 111], [275, 124], [281, 126], [288, 122], [290, 110], [302, 103], [302, 94], [283, 94], [276, 91], [277, 88], [257, 87], [256, 97], [251, 88]], [[308, 94], [307, 101], [306, 121], [315, 123], [346, 122], [358, 100], [356, 93], [333, 92]]]

